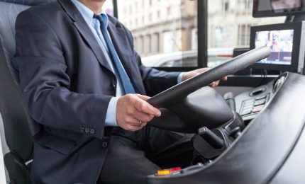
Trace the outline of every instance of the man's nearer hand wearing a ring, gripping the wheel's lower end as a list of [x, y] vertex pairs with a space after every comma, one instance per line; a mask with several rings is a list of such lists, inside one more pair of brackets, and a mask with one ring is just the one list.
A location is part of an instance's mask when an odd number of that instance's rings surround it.
[[116, 104], [116, 122], [118, 126], [128, 131], [142, 129], [153, 117], [159, 117], [161, 111], [154, 108], [146, 100], [148, 96], [128, 94], [118, 98]]

